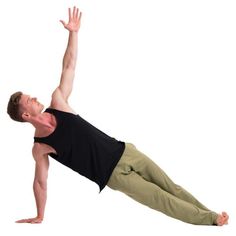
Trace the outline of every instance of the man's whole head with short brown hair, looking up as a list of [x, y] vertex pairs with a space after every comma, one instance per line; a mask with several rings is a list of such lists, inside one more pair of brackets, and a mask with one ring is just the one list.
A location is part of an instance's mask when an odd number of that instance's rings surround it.
[[9, 99], [7, 113], [15, 121], [29, 122], [31, 117], [40, 114], [43, 108], [44, 106], [37, 101], [37, 98], [16, 92]]

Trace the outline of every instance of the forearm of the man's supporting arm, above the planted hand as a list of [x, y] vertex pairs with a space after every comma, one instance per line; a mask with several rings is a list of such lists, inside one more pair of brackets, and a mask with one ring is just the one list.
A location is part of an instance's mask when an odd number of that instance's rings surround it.
[[34, 196], [37, 207], [37, 217], [44, 218], [44, 210], [47, 200], [47, 186], [46, 184], [40, 184], [38, 181], [34, 181], [33, 184]]

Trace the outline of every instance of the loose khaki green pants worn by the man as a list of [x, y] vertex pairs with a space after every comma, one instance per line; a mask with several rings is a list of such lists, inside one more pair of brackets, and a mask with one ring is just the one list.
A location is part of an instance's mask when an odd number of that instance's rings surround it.
[[190, 193], [176, 185], [152, 160], [125, 144], [124, 153], [107, 184], [134, 200], [173, 218], [197, 225], [216, 224], [210, 211]]

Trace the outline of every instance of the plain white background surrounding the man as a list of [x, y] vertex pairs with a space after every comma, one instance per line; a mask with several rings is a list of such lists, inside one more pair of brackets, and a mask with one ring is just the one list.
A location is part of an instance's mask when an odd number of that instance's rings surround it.
[[[189, 225], [136, 203], [51, 159], [45, 220], [32, 191], [33, 128], [11, 121], [22, 90], [49, 105], [68, 32], [83, 11], [72, 107], [132, 142], [216, 212], [224, 227]], [[0, 235], [235, 235], [236, 3], [227, 0], [8, 0], [0, 3]], [[4, 232], [4, 233], [3, 233]]]

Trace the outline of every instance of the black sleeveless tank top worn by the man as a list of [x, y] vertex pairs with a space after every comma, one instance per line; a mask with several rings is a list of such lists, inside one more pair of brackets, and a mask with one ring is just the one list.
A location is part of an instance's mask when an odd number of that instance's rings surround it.
[[49, 155], [65, 166], [99, 185], [106, 186], [120, 160], [125, 143], [103, 133], [79, 115], [48, 108], [57, 120], [57, 127], [47, 137], [34, 137], [34, 142], [53, 147]]

